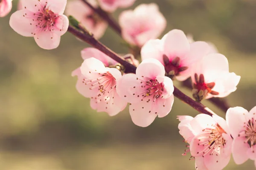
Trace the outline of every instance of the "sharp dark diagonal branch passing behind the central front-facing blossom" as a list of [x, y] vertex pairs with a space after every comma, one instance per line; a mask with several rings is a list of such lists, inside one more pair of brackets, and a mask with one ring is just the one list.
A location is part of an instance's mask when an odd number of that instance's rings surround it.
[[[83, 32], [77, 30], [76, 28], [73, 28], [72, 26], [68, 27], [68, 31], [78, 37], [80, 40], [83, 40], [84, 42], [87, 42], [88, 44], [92, 45], [94, 48], [97, 48], [98, 50], [102, 51], [112, 59], [116, 60], [123, 66], [125, 66], [125, 70], [131, 73], [136, 72], [136, 67], [129, 62], [126, 62], [122, 57], [120, 57], [115, 52], [111, 51], [108, 47], [103, 45], [101, 42], [96, 40], [93, 35], [90, 33], [86, 33], [85, 30]], [[214, 113], [209, 110], [206, 106], [202, 105], [201, 103], [195, 102], [193, 99], [191, 99], [189, 96], [186, 96], [186, 94], [183, 94], [178, 88], [174, 87], [174, 96], [176, 96], [178, 99], [182, 100], [186, 104], [190, 105], [192, 108], [197, 110], [200, 113], [204, 113], [207, 115], [212, 116]]]

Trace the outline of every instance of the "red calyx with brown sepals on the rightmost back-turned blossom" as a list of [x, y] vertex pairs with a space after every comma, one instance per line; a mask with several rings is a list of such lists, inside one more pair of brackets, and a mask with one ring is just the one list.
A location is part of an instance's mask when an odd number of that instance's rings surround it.
[[207, 96], [208, 93], [212, 95], [218, 95], [219, 93], [217, 91], [212, 91], [214, 86], [215, 82], [204, 82], [203, 74], [200, 74], [199, 77], [198, 74], [195, 74], [195, 83], [193, 83], [193, 97], [200, 102]]

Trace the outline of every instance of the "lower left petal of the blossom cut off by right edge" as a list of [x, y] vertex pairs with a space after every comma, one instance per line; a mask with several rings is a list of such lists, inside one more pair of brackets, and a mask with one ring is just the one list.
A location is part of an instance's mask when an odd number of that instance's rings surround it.
[[246, 141], [245, 137], [235, 137], [233, 139], [232, 154], [236, 164], [243, 164], [249, 159], [247, 150], [250, 150], [250, 146], [244, 141]]

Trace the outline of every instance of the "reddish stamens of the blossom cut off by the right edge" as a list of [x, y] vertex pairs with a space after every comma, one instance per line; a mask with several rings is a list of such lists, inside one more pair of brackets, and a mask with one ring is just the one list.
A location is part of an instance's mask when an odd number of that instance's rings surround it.
[[248, 122], [244, 122], [244, 132], [239, 133], [238, 136], [245, 136], [246, 141], [244, 143], [248, 143], [250, 147], [256, 144], [256, 120], [253, 118]]

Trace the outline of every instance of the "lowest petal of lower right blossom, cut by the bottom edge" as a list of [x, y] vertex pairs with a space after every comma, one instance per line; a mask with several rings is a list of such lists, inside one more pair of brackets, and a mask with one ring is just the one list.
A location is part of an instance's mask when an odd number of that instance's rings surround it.
[[207, 154], [204, 156], [204, 164], [208, 170], [223, 170], [229, 163], [230, 156], [231, 155], [226, 156], [224, 154], [218, 154], [217, 152], [213, 153], [211, 156]]

